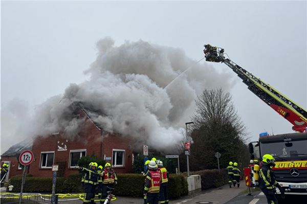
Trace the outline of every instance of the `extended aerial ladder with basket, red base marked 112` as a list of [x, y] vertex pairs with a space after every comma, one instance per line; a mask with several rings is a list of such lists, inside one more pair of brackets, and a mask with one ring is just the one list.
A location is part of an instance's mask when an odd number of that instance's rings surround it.
[[228, 57], [226, 58], [224, 56], [224, 49], [206, 44], [204, 53], [206, 61], [221, 62], [229, 66], [243, 80], [243, 83], [248, 86], [248, 89], [253, 94], [273, 108], [280, 116], [288, 120], [293, 125], [292, 129], [294, 131], [307, 131], [307, 111], [305, 109], [278, 92], [270, 84], [255, 77], [252, 73], [231, 61], [227, 54], [225, 54]]

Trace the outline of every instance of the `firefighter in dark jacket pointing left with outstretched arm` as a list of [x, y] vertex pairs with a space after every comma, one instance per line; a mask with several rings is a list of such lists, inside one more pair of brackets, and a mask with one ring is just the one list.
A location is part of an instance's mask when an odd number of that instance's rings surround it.
[[94, 185], [97, 182], [98, 174], [96, 172], [97, 163], [91, 162], [89, 164], [89, 169], [79, 167], [79, 170], [81, 170], [84, 173], [84, 176], [82, 177], [83, 180], [83, 188], [84, 188], [84, 203], [94, 203], [95, 198], [95, 188]]

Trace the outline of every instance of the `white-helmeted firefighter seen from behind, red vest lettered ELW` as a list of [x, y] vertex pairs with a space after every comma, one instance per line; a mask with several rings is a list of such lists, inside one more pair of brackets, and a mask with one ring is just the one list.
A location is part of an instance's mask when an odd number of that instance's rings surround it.
[[147, 204], [158, 204], [161, 173], [157, 169], [155, 161], [149, 162], [149, 171], [147, 172], [145, 179], [144, 195], [147, 196]]

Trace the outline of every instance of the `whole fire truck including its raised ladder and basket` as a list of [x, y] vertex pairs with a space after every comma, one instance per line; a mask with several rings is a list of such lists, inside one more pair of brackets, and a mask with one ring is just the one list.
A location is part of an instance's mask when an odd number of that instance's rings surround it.
[[[307, 111], [270, 84], [231, 61], [224, 54], [224, 49], [206, 44], [204, 53], [206, 61], [221, 62], [229, 66], [253, 94], [293, 125], [294, 133], [260, 134], [257, 142], [249, 144], [249, 149], [251, 158], [262, 158], [264, 154], [274, 156], [276, 166], [272, 169], [286, 195], [307, 196]], [[280, 193], [278, 189], [277, 193]]]

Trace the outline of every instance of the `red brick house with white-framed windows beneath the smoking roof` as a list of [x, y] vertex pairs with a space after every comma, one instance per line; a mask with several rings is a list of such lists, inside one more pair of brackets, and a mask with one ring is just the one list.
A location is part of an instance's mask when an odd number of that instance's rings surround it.
[[[16, 153], [32, 149], [34, 161], [30, 165], [29, 174], [33, 176], [51, 177], [52, 165], [59, 165], [59, 176], [77, 173], [77, 163], [81, 156], [96, 155], [109, 161], [117, 173], [132, 172], [133, 149], [132, 140], [119, 134], [108, 133], [91, 120], [95, 111], [84, 107], [81, 103], [72, 105], [74, 117], [84, 119], [78, 135], [72, 137], [64, 133], [39, 136], [32, 144], [18, 143], [2, 154], [2, 163], [10, 162], [8, 177], [21, 174]], [[16, 148], [18, 147], [18, 148]]]

